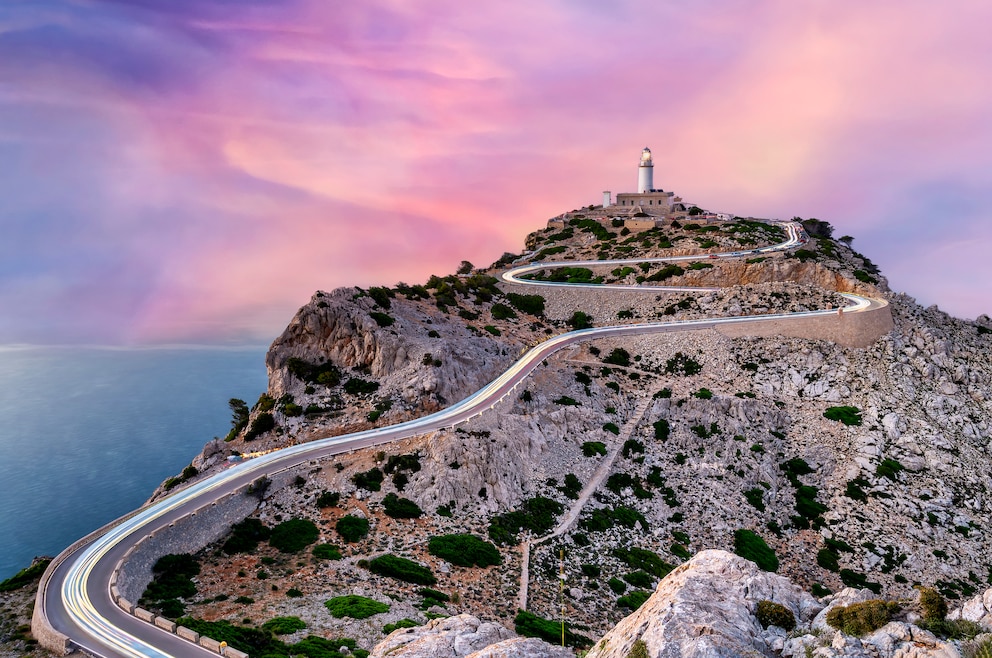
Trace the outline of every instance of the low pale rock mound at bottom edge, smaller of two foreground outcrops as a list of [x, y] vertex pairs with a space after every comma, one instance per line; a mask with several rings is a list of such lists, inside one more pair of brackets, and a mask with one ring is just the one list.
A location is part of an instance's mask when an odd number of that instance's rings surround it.
[[517, 637], [472, 615], [402, 628], [377, 644], [370, 658], [567, 658], [572, 653], [536, 638]]

